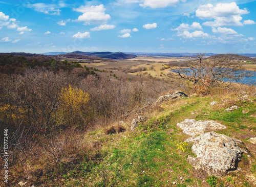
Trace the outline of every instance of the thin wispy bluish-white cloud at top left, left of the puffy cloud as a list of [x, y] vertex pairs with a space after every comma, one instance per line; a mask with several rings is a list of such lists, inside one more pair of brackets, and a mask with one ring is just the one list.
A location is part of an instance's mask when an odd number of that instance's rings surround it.
[[54, 4], [45, 4], [45, 3], [36, 3], [36, 4], [28, 4], [28, 8], [34, 9], [37, 12], [42, 12], [44, 14], [50, 15], [60, 15], [61, 10], [60, 7], [62, 5], [54, 5]]

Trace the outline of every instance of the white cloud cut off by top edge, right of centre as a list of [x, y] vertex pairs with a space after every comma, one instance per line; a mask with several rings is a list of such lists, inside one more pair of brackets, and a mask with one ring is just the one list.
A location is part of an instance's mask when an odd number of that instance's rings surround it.
[[[185, 2], [185, 0], [182, 0], [181, 2]], [[180, 3], [179, 0], [143, 0], [140, 4], [141, 7], [150, 7], [152, 9], [155, 8], [165, 8], [168, 6], [176, 6], [176, 4]]]

